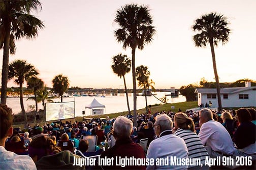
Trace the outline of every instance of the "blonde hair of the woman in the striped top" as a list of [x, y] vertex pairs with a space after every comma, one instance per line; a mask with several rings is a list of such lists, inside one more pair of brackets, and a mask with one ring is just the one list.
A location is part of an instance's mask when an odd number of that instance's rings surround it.
[[181, 112], [176, 113], [174, 115], [174, 120], [178, 128], [196, 132], [194, 121], [190, 117], [188, 117], [186, 114]]

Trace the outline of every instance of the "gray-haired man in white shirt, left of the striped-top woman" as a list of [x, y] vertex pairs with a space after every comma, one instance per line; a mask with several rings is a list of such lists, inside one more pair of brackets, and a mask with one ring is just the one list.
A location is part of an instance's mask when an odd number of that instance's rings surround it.
[[[172, 134], [172, 119], [166, 115], [161, 114], [156, 116], [155, 134], [158, 137], [153, 140], [147, 150], [147, 158], [166, 158], [166, 156], [176, 156], [179, 158], [188, 158], [188, 150], [184, 140]], [[170, 166], [171, 160], [169, 159], [169, 166], [165, 165], [148, 165], [147, 169], [186, 169], [186, 165]]]

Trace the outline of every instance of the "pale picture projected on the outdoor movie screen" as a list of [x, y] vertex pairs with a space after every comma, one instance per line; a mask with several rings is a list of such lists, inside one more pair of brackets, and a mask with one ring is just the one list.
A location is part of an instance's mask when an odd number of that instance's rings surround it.
[[46, 121], [75, 118], [75, 102], [45, 103]]

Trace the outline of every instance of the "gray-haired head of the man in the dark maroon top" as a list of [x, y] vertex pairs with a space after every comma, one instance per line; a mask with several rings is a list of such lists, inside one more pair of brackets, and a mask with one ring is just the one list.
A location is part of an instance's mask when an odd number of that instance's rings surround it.
[[133, 130], [133, 122], [124, 116], [118, 116], [114, 121], [113, 129], [115, 138], [129, 138]]

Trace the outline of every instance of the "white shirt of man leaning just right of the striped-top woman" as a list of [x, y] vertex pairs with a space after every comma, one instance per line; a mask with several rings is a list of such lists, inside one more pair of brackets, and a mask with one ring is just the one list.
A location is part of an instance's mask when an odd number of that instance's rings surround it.
[[235, 147], [226, 128], [217, 121], [209, 120], [202, 124], [198, 134], [203, 145], [209, 146], [213, 151], [233, 155]]

